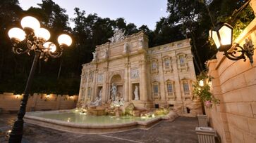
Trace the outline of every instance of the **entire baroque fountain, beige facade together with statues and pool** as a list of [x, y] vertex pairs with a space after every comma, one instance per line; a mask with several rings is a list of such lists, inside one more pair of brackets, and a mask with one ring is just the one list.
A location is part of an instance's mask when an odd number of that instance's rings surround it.
[[25, 121], [79, 133], [150, 128], [165, 119], [202, 114], [192, 94], [190, 39], [148, 48], [144, 32], [116, 30], [83, 64], [76, 109], [35, 111]]

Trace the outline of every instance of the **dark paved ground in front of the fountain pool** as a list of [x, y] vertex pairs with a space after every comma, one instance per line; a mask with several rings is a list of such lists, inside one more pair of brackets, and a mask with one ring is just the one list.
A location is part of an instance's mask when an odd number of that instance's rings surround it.
[[[15, 114], [0, 115], [0, 142], [7, 142], [6, 132], [11, 130], [16, 119]], [[197, 118], [178, 117], [175, 121], [161, 121], [149, 130], [129, 130], [101, 135], [85, 135], [70, 132], [62, 132], [49, 128], [42, 128], [37, 125], [25, 123], [23, 142], [24, 143], [68, 143], [68, 142], [100, 142], [100, 143], [131, 143], [131, 142], [198, 142], [195, 134]]]

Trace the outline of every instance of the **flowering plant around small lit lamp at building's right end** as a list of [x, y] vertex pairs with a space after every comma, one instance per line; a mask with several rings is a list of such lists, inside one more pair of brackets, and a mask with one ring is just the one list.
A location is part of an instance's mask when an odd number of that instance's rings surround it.
[[[202, 83], [203, 85], [202, 85]], [[197, 76], [197, 81], [193, 83], [193, 94], [199, 97], [206, 107], [212, 107], [212, 104], [219, 104], [219, 100], [211, 93], [212, 77], [207, 76], [205, 71], [202, 71]]]

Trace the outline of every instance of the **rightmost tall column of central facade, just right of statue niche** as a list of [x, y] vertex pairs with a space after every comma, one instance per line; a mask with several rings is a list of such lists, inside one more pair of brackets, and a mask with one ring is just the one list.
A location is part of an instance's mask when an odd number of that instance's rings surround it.
[[147, 61], [141, 60], [141, 75], [140, 75], [140, 97], [143, 102], [147, 102]]

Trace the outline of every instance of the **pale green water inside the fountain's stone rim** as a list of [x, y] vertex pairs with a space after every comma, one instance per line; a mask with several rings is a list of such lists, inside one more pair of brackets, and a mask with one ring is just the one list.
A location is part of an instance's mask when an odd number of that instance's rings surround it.
[[[78, 112], [45, 113], [45, 114], [34, 114], [32, 116], [39, 116], [42, 118], [66, 121], [70, 123], [90, 123], [90, 124], [97, 124], [97, 125], [121, 124], [121, 123], [130, 123], [133, 121], [149, 121], [153, 119], [153, 118], [140, 118], [140, 117], [133, 117], [133, 116], [121, 116], [121, 118], [116, 118], [115, 116], [88, 116], [85, 114], [80, 114]], [[154, 118], [158, 118], [158, 117], [159, 116], [155, 116]]]

